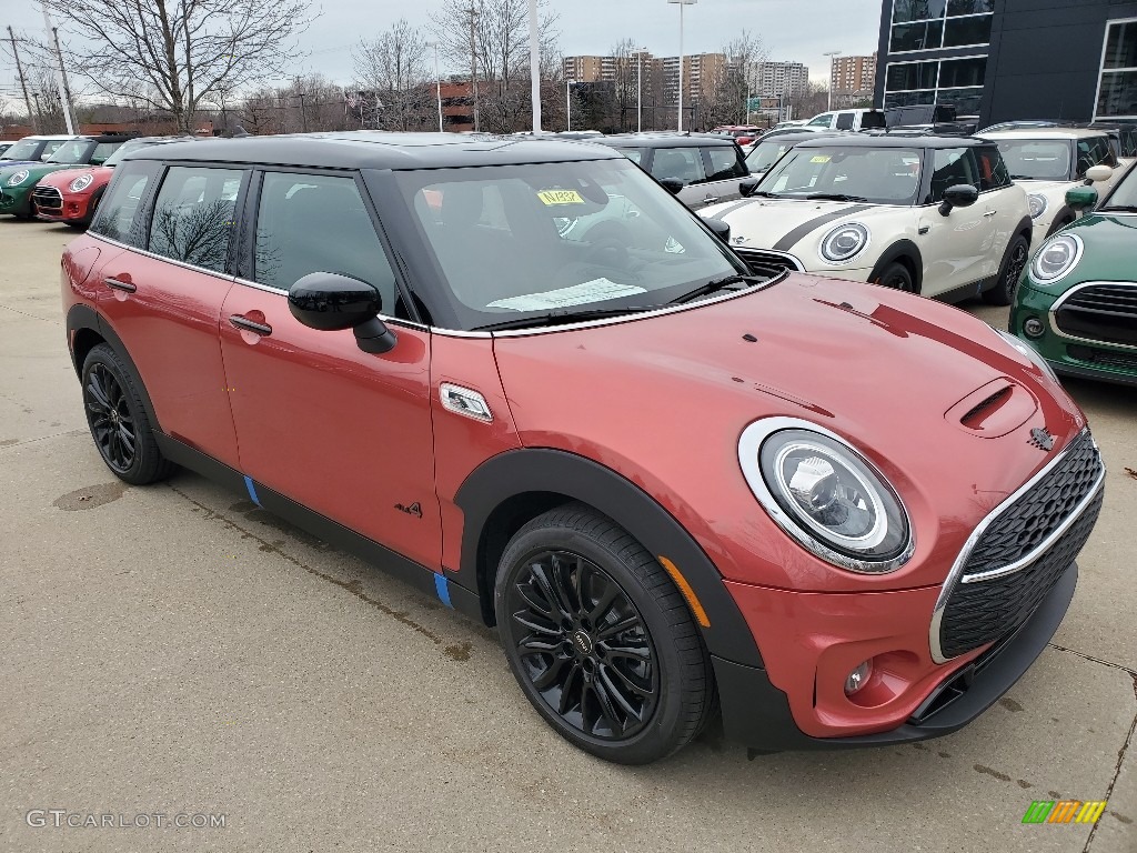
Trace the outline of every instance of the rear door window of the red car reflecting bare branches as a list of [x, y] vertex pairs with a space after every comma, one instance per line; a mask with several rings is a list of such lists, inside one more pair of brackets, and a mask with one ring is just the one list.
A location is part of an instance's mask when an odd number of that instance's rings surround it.
[[225, 272], [242, 175], [230, 168], [172, 166], [155, 202], [150, 251]]

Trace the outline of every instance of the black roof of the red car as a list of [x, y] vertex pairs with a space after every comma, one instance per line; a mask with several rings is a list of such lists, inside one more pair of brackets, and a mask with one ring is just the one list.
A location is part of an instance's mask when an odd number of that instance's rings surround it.
[[300, 133], [240, 139], [204, 139], [147, 146], [126, 160], [240, 163], [323, 168], [447, 168], [616, 159], [599, 146], [572, 140], [458, 133]]

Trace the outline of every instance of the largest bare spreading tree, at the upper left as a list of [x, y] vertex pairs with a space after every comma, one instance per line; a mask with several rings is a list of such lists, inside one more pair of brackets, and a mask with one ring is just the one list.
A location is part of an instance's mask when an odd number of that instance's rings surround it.
[[189, 132], [202, 102], [294, 63], [308, 0], [43, 0], [78, 38], [70, 67], [101, 92], [168, 110]]

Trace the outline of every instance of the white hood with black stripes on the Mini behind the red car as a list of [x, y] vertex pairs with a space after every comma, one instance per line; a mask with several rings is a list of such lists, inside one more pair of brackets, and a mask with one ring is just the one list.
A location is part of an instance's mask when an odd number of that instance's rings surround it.
[[[728, 223], [730, 243], [736, 248], [790, 251], [804, 240], [820, 241], [822, 234], [843, 221], [872, 218], [879, 210], [891, 209], [848, 201], [758, 198], [705, 207], [698, 214]], [[812, 260], [823, 263], [819, 258]]]

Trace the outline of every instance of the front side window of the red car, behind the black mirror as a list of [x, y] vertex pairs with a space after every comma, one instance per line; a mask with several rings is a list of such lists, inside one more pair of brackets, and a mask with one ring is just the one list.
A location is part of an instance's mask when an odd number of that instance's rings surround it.
[[354, 177], [266, 172], [256, 233], [257, 283], [288, 290], [309, 273], [349, 275], [396, 313], [395, 272]]

